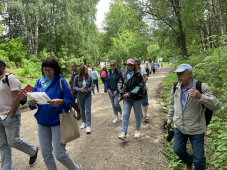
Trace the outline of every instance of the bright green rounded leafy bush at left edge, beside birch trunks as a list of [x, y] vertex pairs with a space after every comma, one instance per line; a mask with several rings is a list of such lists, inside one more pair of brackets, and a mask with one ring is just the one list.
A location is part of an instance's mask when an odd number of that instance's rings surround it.
[[20, 65], [22, 59], [26, 57], [26, 47], [20, 38], [11, 39], [7, 43], [2, 43], [0, 46], [0, 56], [14, 61], [16, 65]]

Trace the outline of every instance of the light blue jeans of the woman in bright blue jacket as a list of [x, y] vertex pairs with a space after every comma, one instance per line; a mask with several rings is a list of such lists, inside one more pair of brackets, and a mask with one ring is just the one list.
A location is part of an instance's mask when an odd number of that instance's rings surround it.
[[54, 156], [67, 169], [69, 170], [78, 169], [73, 159], [66, 152], [65, 149], [66, 145], [60, 143], [61, 140], [60, 126], [43, 126], [38, 124], [38, 137], [41, 154], [43, 156], [44, 163], [48, 170], [58, 169]]

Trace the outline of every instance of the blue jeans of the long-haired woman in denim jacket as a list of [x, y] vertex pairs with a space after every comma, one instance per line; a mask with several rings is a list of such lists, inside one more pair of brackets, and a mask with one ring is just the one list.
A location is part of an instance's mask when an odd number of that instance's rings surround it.
[[91, 93], [77, 93], [77, 102], [83, 122], [87, 127], [91, 126]]

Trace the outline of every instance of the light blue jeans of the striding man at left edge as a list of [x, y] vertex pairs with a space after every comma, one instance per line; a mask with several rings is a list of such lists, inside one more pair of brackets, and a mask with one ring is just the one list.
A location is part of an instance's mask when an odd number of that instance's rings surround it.
[[18, 149], [30, 157], [36, 154], [36, 147], [20, 139], [21, 115], [2, 120], [0, 118], [1, 170], [12, 170], [12, 148]]

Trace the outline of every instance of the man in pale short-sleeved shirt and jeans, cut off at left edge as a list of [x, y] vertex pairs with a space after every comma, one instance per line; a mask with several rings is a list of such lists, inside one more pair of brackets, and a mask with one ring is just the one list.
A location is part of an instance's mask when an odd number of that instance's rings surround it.
[[[12, 170], [12, 148], [29, 155], [29, 165], [32, 165], [36, 162], [38, 147], [20, 139], [21, 109], [18, 93], [21, 90], [21, 82], [15, 75], [6, 73], [5, 69], [5, 62], [0, 60], [1, 169]], [[6, 78], [8, 78], [9, 84], [7, 84]]]

